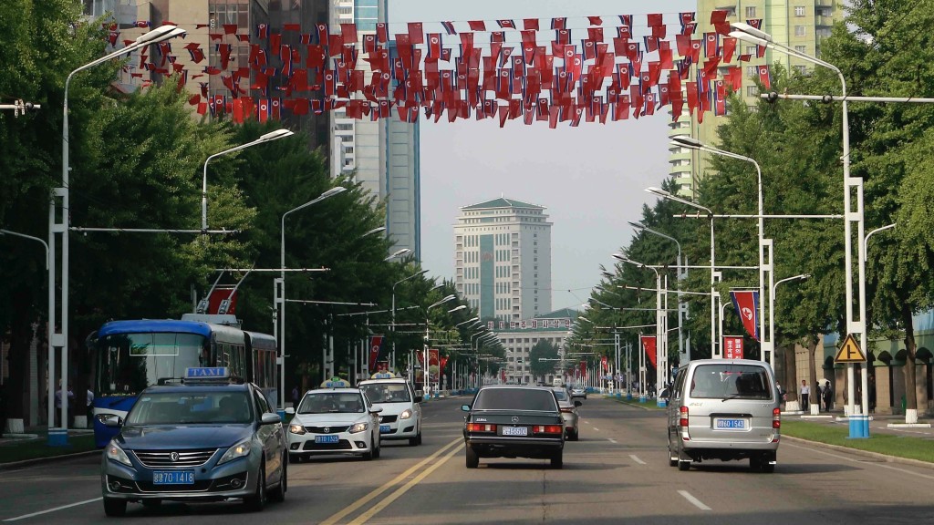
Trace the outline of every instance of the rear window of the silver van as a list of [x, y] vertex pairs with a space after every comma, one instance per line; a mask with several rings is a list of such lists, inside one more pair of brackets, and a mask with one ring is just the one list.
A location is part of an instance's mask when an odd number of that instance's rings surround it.
[[688, 394], [707, 399], [771, 399], [774, 386], [763, 366], [711, 363], [694, 369]]

